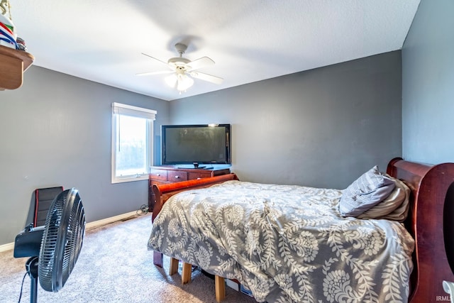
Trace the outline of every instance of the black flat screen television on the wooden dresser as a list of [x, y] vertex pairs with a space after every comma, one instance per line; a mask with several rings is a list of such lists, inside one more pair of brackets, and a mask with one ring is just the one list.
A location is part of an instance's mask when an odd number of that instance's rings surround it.
[[161, 126], [161, 164], [231, 164], [231, 125]]

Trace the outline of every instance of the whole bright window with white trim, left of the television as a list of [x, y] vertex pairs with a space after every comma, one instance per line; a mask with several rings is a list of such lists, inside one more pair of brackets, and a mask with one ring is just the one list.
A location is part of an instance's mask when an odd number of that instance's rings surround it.
[[148, 180], [156, 111], [112, 104], [112, 183]]

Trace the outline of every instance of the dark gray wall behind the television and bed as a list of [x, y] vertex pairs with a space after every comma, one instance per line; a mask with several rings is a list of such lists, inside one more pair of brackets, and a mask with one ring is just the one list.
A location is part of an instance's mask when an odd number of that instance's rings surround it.
[[402, 155], [401, 52], [170, 102], [170, 121], [231, 123], [240, 180], [345, 188]]

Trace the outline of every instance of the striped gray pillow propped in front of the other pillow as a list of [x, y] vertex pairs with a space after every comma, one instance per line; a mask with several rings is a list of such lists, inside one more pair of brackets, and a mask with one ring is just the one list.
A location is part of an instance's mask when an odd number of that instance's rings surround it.
[[359, 216], [382, 202], [395, 186], [375, 165], [343, 190], [339, 211], [342, 216]]

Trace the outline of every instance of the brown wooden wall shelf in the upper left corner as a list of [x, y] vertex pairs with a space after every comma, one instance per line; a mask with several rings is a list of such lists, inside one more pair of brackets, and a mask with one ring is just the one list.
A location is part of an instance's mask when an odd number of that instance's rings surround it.
[[0, 90], [21, 87], [23, 72], [33, 60], [35, 57], [30, 53], [0, 45]]

